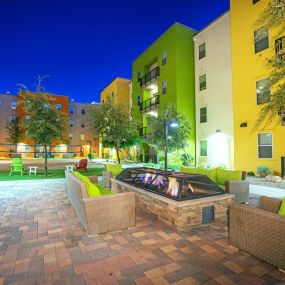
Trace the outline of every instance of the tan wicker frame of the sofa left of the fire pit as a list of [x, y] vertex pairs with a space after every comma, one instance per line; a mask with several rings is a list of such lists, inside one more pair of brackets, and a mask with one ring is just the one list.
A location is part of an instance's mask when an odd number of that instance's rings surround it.
[[[85, 183], [65, 172], [68, 199], [88, 234], [135, 226], [135, 193], [116, 193], [89, 198]], [[96, 182], [96, 177], [90, 179]]]

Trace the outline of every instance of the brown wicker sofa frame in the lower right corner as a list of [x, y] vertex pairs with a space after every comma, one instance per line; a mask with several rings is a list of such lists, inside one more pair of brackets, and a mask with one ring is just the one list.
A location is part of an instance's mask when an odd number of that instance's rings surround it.
[[230, 243], [285, 270], [285, 217], [277, 214], [281, 200], [260, 198], [259, 208], [230, 206]]

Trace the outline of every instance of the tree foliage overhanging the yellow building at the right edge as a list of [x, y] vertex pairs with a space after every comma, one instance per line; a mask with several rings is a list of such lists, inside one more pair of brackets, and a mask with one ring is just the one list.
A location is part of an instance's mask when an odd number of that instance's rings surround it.
[[[277, 35], [285, 30], [285, 0], [272, 0], [264, 8], [257, 26], [263, 30], [273, 29]], [[283, 34], [283, 36], [285, 36]], [[284, 41], [283, 41], [284, 49]], [[265, 127], [276, 118], [282, 120], [285, 117], [285, 54], [276, 53], [266, 59], [267, 68], [270, 70], [271, 96], [270, 100], [260, 109], [254, 129]]]

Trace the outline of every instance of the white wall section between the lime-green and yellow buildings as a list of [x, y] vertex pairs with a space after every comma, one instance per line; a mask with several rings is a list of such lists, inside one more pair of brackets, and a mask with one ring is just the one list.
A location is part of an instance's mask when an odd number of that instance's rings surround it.
[[[199, 60], [199, 45], [206, 43], [206, 57]], [[194, 37], [197, 162], [232, 168], [233, 102], [229, 12]], [[207, 88], [200, 91], [199, 76], [207, 75]], [[207, 107], [207, 123], [200, 124], [200, 107]], [[216, 133], [220, 130], [220, 133]], [[200, 141], [208, 141], [208, 156], [200, 156]]]

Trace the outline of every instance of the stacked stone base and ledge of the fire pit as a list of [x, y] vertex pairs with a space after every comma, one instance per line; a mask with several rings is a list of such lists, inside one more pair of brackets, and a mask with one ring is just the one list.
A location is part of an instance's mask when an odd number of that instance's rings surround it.
[[111, 190], [113, 193], [135, 192], [136, 207], [156, 215], [158, 219], [178, 230], [202, 224], [204, 207], [214, 206], [214, 219], [224, 219], [234, 198], [231, 194], [223, 194], [178, 202], [115, 179], [111, 181]]

